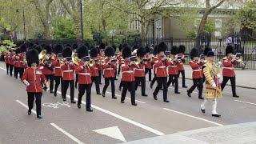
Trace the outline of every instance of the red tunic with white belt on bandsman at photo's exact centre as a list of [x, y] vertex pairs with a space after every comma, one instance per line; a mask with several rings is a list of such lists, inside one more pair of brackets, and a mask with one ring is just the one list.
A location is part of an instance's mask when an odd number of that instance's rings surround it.
[[129, 66], [129, 61], [125, 61], [121, 66], [122, 70], [122, 81], [123, 82], [134, 82], [134, 66]]

